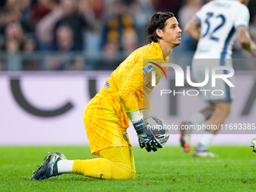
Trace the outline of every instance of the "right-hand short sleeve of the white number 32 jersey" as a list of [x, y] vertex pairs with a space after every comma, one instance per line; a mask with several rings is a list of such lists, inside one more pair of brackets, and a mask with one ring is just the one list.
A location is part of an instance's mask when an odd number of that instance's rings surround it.
[[239, 6], [239, 11], [236, 11], [235, 28], [245, 27], [248, 29], [249, 20], [250, 14], [248, 8], [245, 5]]

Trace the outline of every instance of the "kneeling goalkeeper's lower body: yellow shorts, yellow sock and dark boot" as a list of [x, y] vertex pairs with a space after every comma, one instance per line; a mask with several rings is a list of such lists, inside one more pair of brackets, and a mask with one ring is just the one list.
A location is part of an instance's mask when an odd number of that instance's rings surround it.
[[[126, 122], [120, 120], [120, 115], [111, 110], [111, 105], [103, 98], [97, 98], [87, 105], [84, 116], [91, 152], [103, 158], [64, 160], [50, 154], [39, 170], [43, 172], [43, 177], [34, 174], [32, 180], [70, 172], [93, 178], [127, 179], [131, 175], [131, 165], [135, 175], [134, 162], [130, 162], [129, 138], [124, 130]], [[45, 174], [49, 167], [50, 173], [47, 171]]]

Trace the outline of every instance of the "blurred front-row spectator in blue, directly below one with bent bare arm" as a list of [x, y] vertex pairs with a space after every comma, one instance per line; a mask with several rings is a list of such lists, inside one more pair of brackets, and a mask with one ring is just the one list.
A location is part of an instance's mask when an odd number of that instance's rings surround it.
[[59, 26], [56, 29], [56, 44], [54, 50], [57, 55], [48, 56], [45, 62], [48, 70], [83, 70], [85, 61], [83, 56], [74, 55], [78, 50], [75, 45], [74, 34], [69, 26]]

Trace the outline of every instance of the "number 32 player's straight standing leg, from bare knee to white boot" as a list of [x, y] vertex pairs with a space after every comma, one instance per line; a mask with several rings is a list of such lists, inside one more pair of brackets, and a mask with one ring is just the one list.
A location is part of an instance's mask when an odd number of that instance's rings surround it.
[[216, 102], [215, 111], [212, 114], [212, 117], [209, 119], [209, 125], [215, 126], [217, 129], [205, 131], [200, 141], [197, 144], [197, 147], [194, 151], [194, 156], [197, 157], [214, 157], [214, 154], [208, 151], [209, 145], [212, 143], [215, 134], [218, 133], [218, 130], [221, 128], [221, 124], [224, 123], [224, 120], [227, 118], [227, 115], [230, 113], [230, 104], [231, 102]]

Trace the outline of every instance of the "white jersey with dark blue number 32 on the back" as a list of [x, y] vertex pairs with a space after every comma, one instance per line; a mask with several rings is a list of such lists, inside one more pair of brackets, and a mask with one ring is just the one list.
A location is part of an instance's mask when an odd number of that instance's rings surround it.
[[201, 35], [194, 58], [230, 59], [236, 29], [248, 28], [248, 8], [236, 0], [215, 0], [195, 16], [201, 24]]

